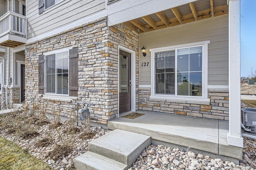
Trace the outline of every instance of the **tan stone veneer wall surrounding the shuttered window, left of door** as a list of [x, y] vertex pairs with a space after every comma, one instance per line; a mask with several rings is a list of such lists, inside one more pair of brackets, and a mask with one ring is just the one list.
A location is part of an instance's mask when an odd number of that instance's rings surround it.
[[[136, 50], [138, 34], [119, 24], [107, 27], [106, 18], [26, 45], [25, 97], [27, 103], [41, 103], [48, 113], [68, 116], [77, 102], [89, 107], [92, 122], [107, 124], [118, 115], [118, 44]], [[38, 56], [63, 47], [78, 47], [78, 97], [57, 99], [38, 94]], [[138, 83], [138, 59], [136, 59]]]

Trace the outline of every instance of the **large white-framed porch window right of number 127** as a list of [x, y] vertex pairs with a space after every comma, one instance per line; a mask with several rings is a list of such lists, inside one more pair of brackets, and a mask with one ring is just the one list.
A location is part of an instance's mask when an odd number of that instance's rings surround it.
[[157, 98], [207, 98], [208, 43], [150, 49], [152, 93]]

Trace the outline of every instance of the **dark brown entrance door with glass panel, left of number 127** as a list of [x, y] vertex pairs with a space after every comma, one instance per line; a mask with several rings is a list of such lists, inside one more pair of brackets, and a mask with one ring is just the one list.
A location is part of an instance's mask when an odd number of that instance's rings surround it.
[[119, 50], [119, 113], [131, 110], [131, 54]]

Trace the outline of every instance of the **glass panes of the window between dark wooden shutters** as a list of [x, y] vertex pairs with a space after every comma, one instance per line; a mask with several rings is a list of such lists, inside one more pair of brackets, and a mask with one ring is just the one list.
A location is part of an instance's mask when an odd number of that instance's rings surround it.
[[68, 95], [68, 51], [46, 55], [46, 93]]

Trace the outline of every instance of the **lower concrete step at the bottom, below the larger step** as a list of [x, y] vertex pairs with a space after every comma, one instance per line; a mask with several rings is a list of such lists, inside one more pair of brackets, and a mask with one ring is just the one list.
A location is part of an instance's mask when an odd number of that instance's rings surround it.
[[85, 152], [74, 160], [77, 170], [123, 170], [127, 165], [93, 152]]

